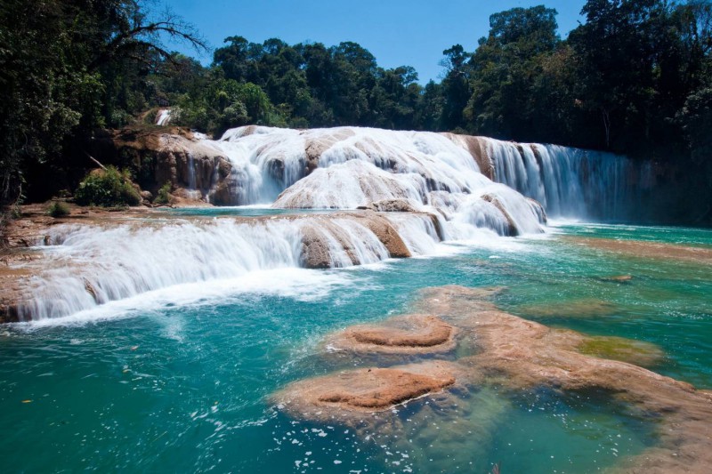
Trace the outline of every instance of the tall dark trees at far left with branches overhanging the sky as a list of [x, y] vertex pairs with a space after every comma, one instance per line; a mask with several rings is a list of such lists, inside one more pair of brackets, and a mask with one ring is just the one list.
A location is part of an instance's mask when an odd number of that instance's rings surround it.
[[[170, 12], [134, 0], [5, 0], [0, 7], [0, 208], [52, 192], [72, 141], [146, 108], [161, 37], [203, 45]], [[69, 183], [62, 183], [66, 187]]]

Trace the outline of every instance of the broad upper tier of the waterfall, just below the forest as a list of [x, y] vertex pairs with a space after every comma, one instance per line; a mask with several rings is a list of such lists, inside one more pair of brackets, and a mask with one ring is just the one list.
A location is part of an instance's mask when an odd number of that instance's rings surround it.
[[166, 151], [188, 156], [176, 184], [216, 204], [349, 209], [405, 198], [445, 211], [462, 197], [506, 192], [496, 181], [553, 217], [616, 221], [635, 215], [641, 191], [653, 186], [649, 166], [610, 153], [451, 133], [246, 126], [219, 141], [165, 141]]

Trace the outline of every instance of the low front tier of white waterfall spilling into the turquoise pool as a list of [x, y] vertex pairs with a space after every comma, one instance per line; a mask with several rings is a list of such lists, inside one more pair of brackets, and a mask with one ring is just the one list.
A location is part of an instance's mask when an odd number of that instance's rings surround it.
[[[56, 226], [36, 243], [44, 251], [43, 269], [28, 279], [18, 313], [22, 320], [63, 317], [172, 285], [303, 267], [303, 228], [316, 224], [320, 219], [304, 216]], [[337, 217], [318, 229], [332, 268], [390, 257], [359, 222]], [[421, 235], [408, 243], [413, 254], [434, 245], [433, 237]]]

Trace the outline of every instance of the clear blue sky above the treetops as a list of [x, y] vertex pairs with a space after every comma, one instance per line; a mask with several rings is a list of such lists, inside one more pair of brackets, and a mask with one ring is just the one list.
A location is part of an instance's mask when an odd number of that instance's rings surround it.
[[[559, 15], [562, 37], [576, 28], [585, 0], [166, 0], [171, 9], [195, 25], [215, 48], [227, 36], [254, 43], [278, 37], [288, 44], [310, 41], [327, 46], [359, 43], [378, 65], [416, 68], [420, 82], [438, 80], [442, 51], [462, 44], [473, 51], [490, 29], [490, 15], [514, 7], [545, 4]], [[196, 53], [174, 46], [195, 57]], [[198, 58], [204, 64], [212, 56]]]

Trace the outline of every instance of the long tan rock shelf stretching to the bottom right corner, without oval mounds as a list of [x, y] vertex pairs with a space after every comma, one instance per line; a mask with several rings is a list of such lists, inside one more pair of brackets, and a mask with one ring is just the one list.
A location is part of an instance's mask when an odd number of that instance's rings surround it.
[[[659, 443], [623, 462], [625, 472], [707, 472], [712, 465], [712, 394], [627, 362], [578, 351], [587, 337], [554, 330], [504, 313], [487, 303], [471, 305], [477, 293], [449, 286], [424, 293], [419, 308], [473, 331], [477, 355], [458, 363], [474, 381], [510, 390], [603, 390], [656, 421]], [[484, 308], [484, 309], [483, 309]], [[457, 321], [457, 323], [455, 322]], [[589, 338], [591, 339], [591, 338]], [[595, 338], [594, 338], [595, 341]]]

